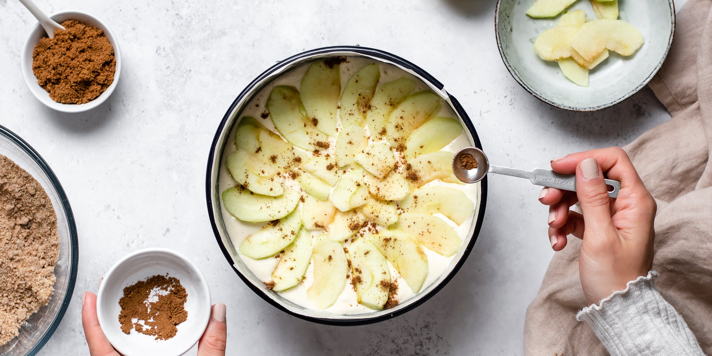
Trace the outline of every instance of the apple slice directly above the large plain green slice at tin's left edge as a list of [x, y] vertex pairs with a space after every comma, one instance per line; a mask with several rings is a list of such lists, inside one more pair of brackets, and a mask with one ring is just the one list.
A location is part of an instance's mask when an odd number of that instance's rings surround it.
[[232, 152], [225, 161], [231, 176], [243, 187], [270, 197], [284, 194], [282, 174], [247, 151]]

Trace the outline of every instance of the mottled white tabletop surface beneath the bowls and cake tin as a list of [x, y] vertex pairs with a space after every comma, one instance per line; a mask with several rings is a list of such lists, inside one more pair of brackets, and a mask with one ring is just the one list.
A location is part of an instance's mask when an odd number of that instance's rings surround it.
[[205, 204], [209, 145], [231, 101], [273, 63], [310, 48], [359, 43], [422, 66], [469, 112], [491, 161], [513, 167], [625, 145], [669, 119], [648, 88], [592, 113], [530, 96], [497, 51], [495, 2], [38, 0], [47, 11], [95, 14], [120, 38], [115, 93], [95, 110], [66, 115], [26, 88], [20, 51], [36, 21], [18, 1], [0, 0], [0, 124], [49, 162], [79, 230], [72, 304], [40, 355], [88, 355], [82, 291], [95, 291], [117, 258], [151, 246], [187, 254], [213, 302], [227, 304], [228, 355], [523, 355], [525, 309], [553, 255], [540, 189], [523, 179], [491, 177], [475, 249], [439, 294], [399, 318], [354, 328], [298, 320], [258, 298], [222, 256]]

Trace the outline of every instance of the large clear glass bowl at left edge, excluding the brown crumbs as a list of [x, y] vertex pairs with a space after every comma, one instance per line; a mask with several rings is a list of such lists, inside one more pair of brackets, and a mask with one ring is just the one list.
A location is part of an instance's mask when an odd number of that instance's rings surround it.
[[3, 126], [0, 126], [0, 155], [12, 159], [37, 179], [57, 214], [59, 258], [54, 268], [54, 293], [47, 305], [23, 323], [20, 335], [0, 345], [0, 356], [36, 355], [57, 329], [74, 292], [79, 263], [77, 227], [64, 189], [47, 162], [27, 142]]

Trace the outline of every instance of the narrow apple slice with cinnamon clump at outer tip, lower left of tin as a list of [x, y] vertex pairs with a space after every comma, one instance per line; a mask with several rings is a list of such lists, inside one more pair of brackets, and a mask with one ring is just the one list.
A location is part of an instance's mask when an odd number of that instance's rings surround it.
[[284, 248], [284, 253], [272, 271], [272, 290], [278, 292], [298, 285], [307, 271], [311, 254], [311, 234], [302, 228], [294, 242]]

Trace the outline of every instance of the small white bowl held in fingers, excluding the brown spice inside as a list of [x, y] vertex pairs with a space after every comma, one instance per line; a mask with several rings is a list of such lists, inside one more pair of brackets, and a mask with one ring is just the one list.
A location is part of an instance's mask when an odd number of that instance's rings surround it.
[[[177, 325], [178, 333], [168, 340], [131, 330], [121, 331], [119, 299], [124, 288], [156, 275], [169, 273], [186, 289], [185, 310], [188, 319]], [[129, 253], [112, 266], [99, 287], [96, 310], [99, 325], [111, 345], [125, 356], [179, 356], [191, 349], [205, 331], [210, 320], [210, 290], [203, 273], [182, 253], [167, 248], [145, 248]]]

